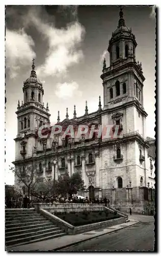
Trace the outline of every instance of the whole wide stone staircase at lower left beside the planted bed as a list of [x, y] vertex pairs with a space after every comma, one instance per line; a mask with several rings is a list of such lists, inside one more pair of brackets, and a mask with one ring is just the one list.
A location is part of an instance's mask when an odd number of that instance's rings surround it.
[[65, 236], [64, 230], [31, 209], [5, 209], [6, 246]]

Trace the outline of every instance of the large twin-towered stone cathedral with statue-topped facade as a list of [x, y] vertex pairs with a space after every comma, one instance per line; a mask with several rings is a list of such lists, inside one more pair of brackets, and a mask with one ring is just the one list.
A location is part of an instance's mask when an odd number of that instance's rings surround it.
[[[50, 124], [50, 114], [48, 103], [46, 107], [43, 103], [43, 84], [37, 78], [33, 60], [31, 75], [23, 82], [23, 102], [20, 105], [18, 101], [16, 111], [18, 132], [13, 163], [16, 169], [23, 170], [34, 162], [40, 180], [51, 180], [54, 176], [57, 180], [66, 170], [70, 176], [79, 170], [86, 186], [79, 195], [106, 197], [123, 204], [127, 200], [138, 202], [142, 195], [139, 188], [152, 191], [155, 175], [154, 156], [149, 155], [154, 141], [149, 143], [146, 137], [145, 77], [141, 62], [136, 60], [137, 41], [131, 28], [125, 25], [122, 9], [119, 15], [117, 29], [109, 40], [110, 66], [106, 66], [104, 59], [100, 76], [103, 105], [98, 97], [98, 110], [88, 113], [86, 101], [85, 114], [80, 117], [76, 116], [74, 105], [73, 118], [69, 119], [67, 109], [66, 118], [61, 121], [58, 112], [57, 124], [63, 129], [73, 125], [74, 131], [81, 124], [89, 129], [92, 125], [95, 129], [111, 125], [111, 134], [119, 126], [121, 136], [98, 138], [94, 133], [92, 138], [62, 138], [61, 134], [40, 138], [39, 127]], [[16, 177], [15, 186], [19, 186]], [[144, 194], [143, 199], [148, 200]]]

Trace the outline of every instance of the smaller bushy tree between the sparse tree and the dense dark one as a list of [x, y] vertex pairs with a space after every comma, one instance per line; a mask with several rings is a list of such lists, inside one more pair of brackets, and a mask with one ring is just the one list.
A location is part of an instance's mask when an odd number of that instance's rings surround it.
[[53, 197], [53, 181], [43, 180], [37, 182], [32, 189], [32, 196], [45, 200], [46, 198]]

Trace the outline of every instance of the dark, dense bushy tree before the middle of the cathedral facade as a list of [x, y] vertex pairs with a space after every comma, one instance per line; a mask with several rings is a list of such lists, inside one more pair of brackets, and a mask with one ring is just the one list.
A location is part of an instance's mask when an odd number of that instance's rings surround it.
[[63, 177], [58, 177], [58, 181], [56, 182], [57, 194], [66, 196], [68, 193], [72, 197], [72, 194], [76, 194], [79, 189], [85, 189], [80, 172], [74, 173], [71, 177], [66, 172]]

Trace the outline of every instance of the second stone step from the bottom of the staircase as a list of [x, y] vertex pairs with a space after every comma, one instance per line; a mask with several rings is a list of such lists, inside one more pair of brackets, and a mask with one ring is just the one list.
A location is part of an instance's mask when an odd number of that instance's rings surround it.
[[[36, 241], [34, 240], [37, 240], [41, 241], [42, 240], [48, 240], [49, 237], [50, 239], [51, 238], [57, 238], [57, 237], [61, 237], [61, 236], [65, 236], [65, 232], [63, 232], [62, 230], [60, 230], [60, 232], [58, 233], [58, 231], [52, 231], [52, 232], [48, 232], [48, 233], [42, 233], [42, 234], [34, 234], [33, 236], [29, 236], [29, 237], [26, 237], [26, 238], [21, 238], [21, 239], [13, 239], [13, 240], [9, 240], [9, 241], [6, 241], [6, 245], [16, 245], [16, 244], [19, 244], [19, 243], [25, 243], [25, 242], [28, 242], [28, 243], [34, 243]], [[13, 237], [15, 238], [15, 237]]]

